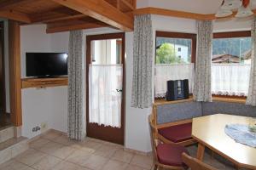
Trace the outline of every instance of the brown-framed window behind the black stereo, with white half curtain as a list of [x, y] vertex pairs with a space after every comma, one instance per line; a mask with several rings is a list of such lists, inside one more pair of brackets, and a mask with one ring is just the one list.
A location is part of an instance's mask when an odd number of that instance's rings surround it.
[[156, 31], [155, 98], [166, 97], [166, 82], [189, 79], [192, 94], [195, 75], [196, 35]]

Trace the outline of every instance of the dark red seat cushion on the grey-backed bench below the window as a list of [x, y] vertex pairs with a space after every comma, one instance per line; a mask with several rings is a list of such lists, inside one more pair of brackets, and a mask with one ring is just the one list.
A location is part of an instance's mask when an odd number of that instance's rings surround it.
[[192, 122], [159, 129], [160, 135], [174, 143], [192, 139]]

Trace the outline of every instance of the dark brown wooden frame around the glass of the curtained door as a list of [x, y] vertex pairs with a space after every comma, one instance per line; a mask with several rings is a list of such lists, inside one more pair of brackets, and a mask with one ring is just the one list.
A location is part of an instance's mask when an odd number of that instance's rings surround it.
[[[105, 127], [106, 131], [104, 132], [96, 132], [96, 130], [90, 130], [94, 127], [103, 127], [96, 125], [90, 125], [89, 124], [89, 65], [91, 63], [91, 42], [95, 40], [106, 40], [106, 39], [116, 39], [121, 38], [122, 39], [122, 64], [123, 64], [123, 91], [122, 91], [122, 105], [121, 105], [121, 136], [115, 138], [114, 135], [108, 135], [106, 136], [106, 133], [112, 133], [113, 127]], [[100, 35], [90, 35], [86, 36], [86, 135], [88, 137], [96, 137], [98, 139], [107, 140], [109, 142], [117, 143], [117, 144], [125, 144], [125, 32], [119, 32], [119, 33], [109, 33], [109, 34], [100, 34]]]

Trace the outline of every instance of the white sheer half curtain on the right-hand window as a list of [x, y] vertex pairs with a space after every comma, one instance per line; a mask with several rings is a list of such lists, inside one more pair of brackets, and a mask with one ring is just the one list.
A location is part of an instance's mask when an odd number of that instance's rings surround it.
[[212, 64], [212, 94], [247, 96], [251, 65]]

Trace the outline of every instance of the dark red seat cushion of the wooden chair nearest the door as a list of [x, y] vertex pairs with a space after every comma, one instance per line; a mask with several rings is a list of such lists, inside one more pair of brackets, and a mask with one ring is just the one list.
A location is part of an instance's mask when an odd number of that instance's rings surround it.
[[161, 164], [174, 167], [184, 167], [182, 153], [189, 154], [185, 147], [178, 144], [159, 144], [156, 152]]

